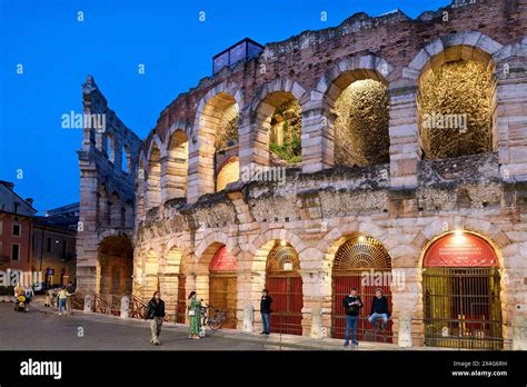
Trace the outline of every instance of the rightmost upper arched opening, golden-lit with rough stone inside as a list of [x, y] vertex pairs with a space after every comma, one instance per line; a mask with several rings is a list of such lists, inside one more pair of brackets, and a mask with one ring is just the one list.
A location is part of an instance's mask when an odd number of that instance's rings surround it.
[[418, 81], [424, 158], [493, 151], [496, 80], [490, 56], [459, 46], [441, 58], [430, 60]]

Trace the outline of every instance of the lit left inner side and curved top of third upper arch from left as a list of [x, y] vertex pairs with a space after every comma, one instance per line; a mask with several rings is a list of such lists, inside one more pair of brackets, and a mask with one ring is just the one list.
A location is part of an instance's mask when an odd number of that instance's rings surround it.
[[[216, 139], [222, 117], [229, 109], [239, 111], [243, 106], [241, 89], [232, 82], [222, 82], [210, 89], [196, 111], [192, 142], [190, 143], [189, 186], [190, 202], [216, 190]], [[225, 123], [225, 122], [223, 122]], [[238, 141], [238, 139], [237, 139]], [[238, 148], [231, 151], [238, 156]]]

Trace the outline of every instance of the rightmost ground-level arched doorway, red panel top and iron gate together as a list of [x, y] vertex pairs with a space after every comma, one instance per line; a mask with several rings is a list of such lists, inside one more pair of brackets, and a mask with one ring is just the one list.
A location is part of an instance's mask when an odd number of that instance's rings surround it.
[[435, 239], [422, 260], [425, 345], [501, 349], [498, 257], [484, 238], [456, 231]]

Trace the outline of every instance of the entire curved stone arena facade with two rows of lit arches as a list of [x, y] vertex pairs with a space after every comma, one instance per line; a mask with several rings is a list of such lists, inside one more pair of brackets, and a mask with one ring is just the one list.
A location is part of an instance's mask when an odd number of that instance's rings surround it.
[[341, 337], [381, 287], [394, 343], [526, 349], [526, 8], [358, 13], [215, 63], [143, 141], [84, 130], [80, 288], [160, 289], [180, 322], [196, 290], [253, 331], [267, 287], [274, 329]]

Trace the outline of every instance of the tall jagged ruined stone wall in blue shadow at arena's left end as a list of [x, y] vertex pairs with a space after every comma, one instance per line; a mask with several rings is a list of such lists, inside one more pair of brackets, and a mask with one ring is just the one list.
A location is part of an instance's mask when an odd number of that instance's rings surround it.
[[[88, 294], [100, 289], [98, 249], [103, 239], [125, 235], [131, 242], [141, 140], [109, 108], [91, 76], [82, 86], [82, 97], [84, 117], [103, 115], [106, 120], [105, 127], [84, 127], [82, 147], [78, 151], [81, 177], [77, 280], [79, 291]], [[121, 168], [123, 157], [130, 158], [125, 170]]]

